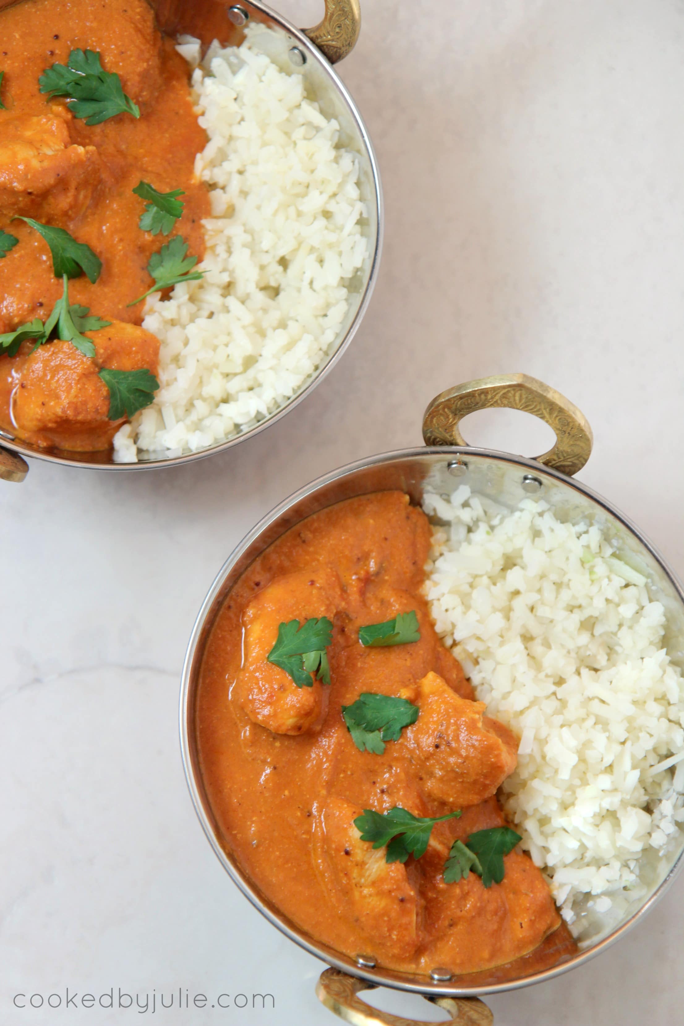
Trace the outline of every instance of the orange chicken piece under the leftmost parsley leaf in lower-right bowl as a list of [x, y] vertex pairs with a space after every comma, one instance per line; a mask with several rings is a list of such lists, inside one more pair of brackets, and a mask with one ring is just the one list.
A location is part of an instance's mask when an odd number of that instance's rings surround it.
[[312, 618], [332, 621], [341, 605], [337, 575], [327, 566], [276, 578], [242, 615], [243, 664], [235, 687], [238, 701], [255, 723], [274, 734], [316, 734], [328, 707], [328, 686], [315, 680], [297, 687], [285, 670], [268, 662], [282, 623]]

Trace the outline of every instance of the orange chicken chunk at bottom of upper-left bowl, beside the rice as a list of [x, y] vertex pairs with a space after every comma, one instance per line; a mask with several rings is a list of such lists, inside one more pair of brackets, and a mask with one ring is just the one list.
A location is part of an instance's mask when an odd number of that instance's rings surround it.
[[95, 358], [84, 356], [71, 342], [51, 342], [25, 361], [14, 391], [12, 417], [23, 434], [41, 433], [53, 444], [81, 448], [81, 436], [98, 426], [97, 447], [107, 447], [122, 420], [110, 421], [110, 393], [98, 377], [100, 367], [157, 373], [159, 340], [145, 328], [122, 321], [86, 331]]

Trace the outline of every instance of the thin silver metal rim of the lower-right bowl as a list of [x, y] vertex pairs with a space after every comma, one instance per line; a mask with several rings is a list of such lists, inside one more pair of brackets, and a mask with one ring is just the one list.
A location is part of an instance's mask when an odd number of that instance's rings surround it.
[[[340, 952], [335, 952], [334, 949], [329, 948], [325, 943], [316, 942], [313, 938], [309, 937], [304, 930], [296, 928], [287, 916], [280, 913], [276, 906], [273, 905], [273, 903], [270, 903], [269, 899], [266, 899], [259, 894], [256, 884], [249, 880], [246, 873], [237, 864], [237, 859], [232, 860], [226, 849], [222, 846], [217, 832], [214, 831], [209, 817], [206, 815], [199, 784], [199, 767], [196, 774], [191, 750], [191, 721], [193, 724], [195, 723], [193, 700], [196, 694], [196, 688], [192, 686], [192, 673], [193, 667], [195, 666], [195, 662], [198, 658], [201, 663], [204, 650], [198, 650], [198, 644], [207, 622], [207, 618], [220, 593], [224, 583], [241, 555], [259, 538], [265, 530], [271, 526], [271, 524], [278, 520], [291, 507], [295, 506], [303, 499], [315, 494], [322, 487], [350, 476], [360, 470], [378, 467], [393, 462], [401, 462], [407, 459], [419, 460], [420, 458], [433, 456], [440, 456], [443, 458], [465, 457], [467, 459], [475, 457], [494, 460], [496, 462], [508, 463], [526, 470], [532, 470], [536, 476], [545, 475], [565, 485], [569, 485], [585, 498], [595, 503], [600, 509], [603, 509], [605, 512], [613, 516], [619, 523], [622, 524], [623, 527], [637, 538], [637, 540], [658, 563], [661, 570], [672, 584], [677, 599], [684, 606], [684, 587], [682, 583], [674, 570], [670, 567], [665, 557], [659, 553], [657, 548], [649, 541], [649, 539], [644, 536], [639, 527], [599, 492], [589, 487], [589, 485], [584, 484], [572, 477], [568, 477], [560, 471], [553, 470], [550, 467], [546, 467], [542, 464], [539, 464], [534, 460], [526, 459], [525, 457], [514, 456], [496, 449], [478, 448], [475, 446], [423, 446], [417, 448], [396, 449], [389, 452], [378, 453], [376, 456], [366, 457], [362, 460], [345, 464], [336, 470], [329, 471], [328, 473], [317, 477], [309, 484], [304, 485], [301, 488], [298, 488], [296, 491], [284, 499], [264, 517], [261, 517], [251, 530], [244, 536], [242, 541], [233, 549], [218, 570], [195, 620], [190, 640], [188, 642], [186, 658], [184, 660], [178, 706], [180, 756], [186, 774], [186, 783], [188, 784], [195, 813], [211, 847], [213, 849], [214, 854], [233, 882], [238, 886], [245, 898], [247, 898], [247, 900], [271, 922], [272, 925], [276, 926], [291, 941], [294, 941], [294, 943], [299, 947], [304, 948], [315, 957], [321, 959], [326, 964], [331, 965], [343, 973], [365, 980], [374, 986], [388, 987], [395, 990], [430, 996], [460, 998], [481, 997], [486, 994], [504, 993], [509, 990], [519, 990], [535, 983], [548, 982], [572, 969], [586, 964], [592, 958], [603, 952], [606, 948], [610, 947], [617, 940], [622, 938], [629, 931], [633, 930], [634, 926], [663, 897], [684, 864], [684, 847], [680, 850], [675, 861], [673, 862], [673, 865], [668, 870], [668, 873], [662, 880], [660, 880], [655, 891], [648, 897], [643, 905], [633, 912], [629, 919], [616, 926], [615, 930], [599, 940], [591, 948], [585, 951], [578, 951], [576, 955], [566, 961], [552, 966], [551, 969], [539, 970], [536, 973], [531, 973], [529, 976], [525, 976], [523, 978], [514, 978], [500, 983], [482, 986], [458, 987], [456, 984], [449, 985], [448, 983], [435, 982], [428, 976], [425, 977], [425, 982], [421, 982], [424, 978], [420, 977], [420, 980], [418, 980], [416, 975], [402, 974], [392, 970], [375, 970], [374, 968], [366, 969], [359, 965], [353, 958], [350, 958]], [[331, 503], [330, 505], [334, 504]], [[292, 526], [292, 524], [289, 526]], [[289, 526], [286, 529], [289, 529]], [[405, 980], [402, 979], [403, 976], [406, 976]], [[458, 978], [456, 977], [456, 979]]]

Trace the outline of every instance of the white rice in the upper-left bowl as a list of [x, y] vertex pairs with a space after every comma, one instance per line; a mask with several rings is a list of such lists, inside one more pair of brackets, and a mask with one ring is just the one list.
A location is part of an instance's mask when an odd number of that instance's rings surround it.
[[[211, 199], [206, 273], [148, 300], [160, 389], [117, 433], [118, 462], [205, 448], [280, 407], [337, 340], [366, 256], [357, 155], [338, 146], [338, 123], [307, 97], [301, 75], [251, 38], [214, 43], [209, 70], [193, 73], [209, 139], [196, 165]], [[178, 49], [197, 64], [196, 41]]]

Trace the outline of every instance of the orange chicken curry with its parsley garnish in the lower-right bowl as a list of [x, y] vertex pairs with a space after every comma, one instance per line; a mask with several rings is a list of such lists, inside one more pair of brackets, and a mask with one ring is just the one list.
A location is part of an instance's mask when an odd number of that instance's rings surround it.
[[223, 843], [294, 923], [378, 965], [465, 974], [572, 942], [496, 798], [518, 739], [431, 622], [430, 535], [387, 491], [275, 542], [212, 628], [197, 738]]

